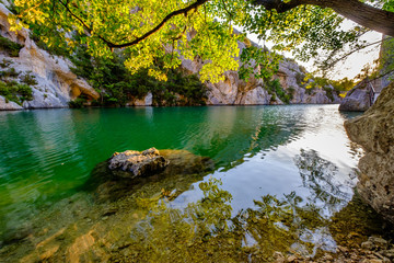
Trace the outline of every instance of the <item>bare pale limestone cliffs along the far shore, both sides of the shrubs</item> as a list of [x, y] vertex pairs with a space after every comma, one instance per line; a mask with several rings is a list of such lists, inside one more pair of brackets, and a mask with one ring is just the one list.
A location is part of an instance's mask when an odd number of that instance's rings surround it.
[[[4, 50], [0, 50], [1, 72], [12, 77], [2, 76], [3, 83], [21, 83], [22, 76], [31, 76], [35, 79], [32, 84], [32, 98], [23, 102], [13, 102], [0, 93], [0, 110], [23, 110], [23, 108], [51, 108], [68, 107], [69, 102], [83, 95], [88, 101], [97, 100], [100, 94], [82, 78], [71, 71], [72, 62], [68, 59], [49, 54], [39, 48], [30, 37], [30, 32], [22, 28], [16, 33], [10, 32], [8, 15], [10, 11], [3, 3], [0, 3], [0, 34], [13, 43], [22, 46], [18, 56], [11, 56]], [[254, 44], [255, 45], [255, 44]], [[246, 44], [239, 42], [240, 54]], [[183, 59], [179, 69], [185, 73], [197, 75], [202, 67], [202, 61], [198, 59]], [[0, 69], [1, 70], [1, 69]], [[255, 66], [258, 70], [258, 66]], [[327, 94], [327, 88], [311, 89], [304, 88], [303, 77], [305, 72], [296, 62], [283, 58], [279, 65], [279, 71], [274, 77], [280, 83], [281, 92], [291, 94], [288, 103], [290, 104], [326, 104], [339, 103], [340, 98], [335, 92]], [[237, 71], [224, 72], [225, 80], [219, 83], [205, 83], [207, 94], [205, 103], [208, 105], [260, 105], [260, 104], [283, 104], [280, 96], [275, 91], [268, 91], [267, 83], [262, 79], [251, 78], [247, 82], [240, 79]], [[332, 88], [332, 87], [331, 87]], [[328, 91], [331, 89], [328, 87]], [[105, 93], [105, 90], [103, 90]], [[142, 99], [130, 99], [126, 105], [129, 106], [150, 106], [155, 105], [157, 94], [150, 91]], [[175, 98], [184, 100], [179, 94]], [[165, 105], [165, 102], [161, 105]]]

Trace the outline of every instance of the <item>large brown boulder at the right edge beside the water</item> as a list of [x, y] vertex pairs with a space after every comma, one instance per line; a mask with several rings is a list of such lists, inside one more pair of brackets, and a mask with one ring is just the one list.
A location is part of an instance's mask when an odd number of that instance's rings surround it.
[[357, 185], [376, 211], [394, 222], [394, 82], [384, 88], [362, 116], [345, 123], [351, 140], [367, 155], [360, 159]]

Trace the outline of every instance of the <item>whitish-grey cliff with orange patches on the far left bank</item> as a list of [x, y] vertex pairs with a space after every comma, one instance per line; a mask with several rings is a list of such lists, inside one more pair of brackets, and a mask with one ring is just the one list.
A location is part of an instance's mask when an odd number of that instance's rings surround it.
[[[99, 99], [99, 93], [85, 80], [79, 79], [71, 72], [72, 64], [69, 60], [38, 48], [25, 28], [16, 33], [10, 32], [9, 14], [10, 11], [0, 3], [1, 35], [24, 47], [20, 50], [19, 57], [10, 57], [7, 53], [0, 53], [0, 61], [10, 61], [9, 67], [14, 68], [21, 76], [27, 73], [34, 76], [37, 82], [32, 85], [33, 100], [25, 101], [23, 108], [68, 107], [68, 103], [81, 94], [88, 99]], [[16, 81], [19, 80], [16, 79]], [[2, 107], [0, 106], [0, 108]]]

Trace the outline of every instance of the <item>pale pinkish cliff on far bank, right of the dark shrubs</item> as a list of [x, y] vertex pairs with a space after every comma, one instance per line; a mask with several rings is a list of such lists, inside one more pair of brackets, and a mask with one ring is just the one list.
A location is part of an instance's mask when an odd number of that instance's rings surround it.
[[[257, 45], [257, 44], [253, 44]], [[239, 42], [240, 54], [246, 44]], [[183, 59], [181, 68], [187, 73], [198, 73], [202, 67], [204, 61], [200, 59], [188, 60]], [[252, 64], [253, 65], [253, 64]], [[255, 66], [255, 71], [259, 66]], [[274, 77], [278, 79], [282, 89], [286, 92], [292, 93], [293, 99], [291, 104], [325, 104], [325, 103], [339, 103], [335, 92], [331, 100], [326, 91], [315, 89], [308, 93], [302, 85], [302, 78], [305, 72], [296, 62], [285, 59], [279, 64], [279, 71]], [[265, 89], [266, 83], [262, 79], [251, 77], [248, 81], [240, 79], [237, 71], [225, 71], [224, 81], [218, 83], [207, 82], [208, 105], [262, 105], [262, 104], [283, 104], [277, 95], [269, 94]]]

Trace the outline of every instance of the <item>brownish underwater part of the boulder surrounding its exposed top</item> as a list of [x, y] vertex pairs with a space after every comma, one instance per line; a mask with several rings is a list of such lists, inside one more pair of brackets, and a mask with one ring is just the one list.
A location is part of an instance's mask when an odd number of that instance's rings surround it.
[[176, 188], [176, 195], [178, 195], [215, 169], [215, 163], [210, 158], [196, 156], [187, 150], [160, 150], [160, 156], [164, 157], [169, 163], [163, 171], [150, 174], [150, 176], [135, 176], [129, 171], [123, 171], [121, 165], [116, 170], [111, 170], [108, 160], [97, 163], [81, 190], [94, 192], [95, 199], [99, 202], [116, 201], [141, 187], [149, 188], [150, 186], [170, 192]]

